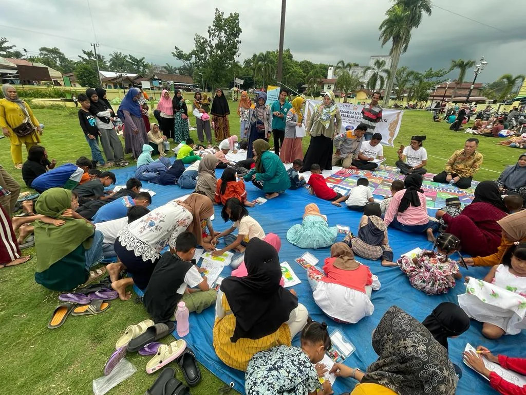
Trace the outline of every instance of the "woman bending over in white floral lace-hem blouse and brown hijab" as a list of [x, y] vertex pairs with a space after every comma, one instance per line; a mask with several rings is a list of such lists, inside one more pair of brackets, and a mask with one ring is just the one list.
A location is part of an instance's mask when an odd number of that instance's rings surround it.
[[[135, 284], [142, 290], [146, 289], [160, 252], [169, 245], [170, 251], [175, 253], [175, 241], [179, 234], [191, 232], [196, 236], [197, 244], [207, 250], [215, 250], [213, 245], [203, 241], [201, 232], [201, 221], [208, 220], [213, 214], [214, 208], [208, 198], [193, 193], [184, 201], [169, 201], [120, 231], [114, 245], [119, 262], [106, 266], [112, 288], [119, 293], [120, 299], [131, 297], [130, 293], [126, 293], [128, 285]], [[119, 280], [122, 270], [127, 270], [130, 276]]]

